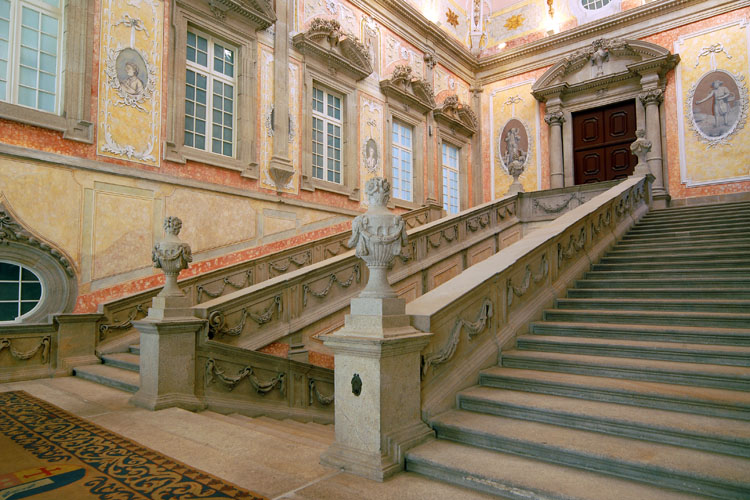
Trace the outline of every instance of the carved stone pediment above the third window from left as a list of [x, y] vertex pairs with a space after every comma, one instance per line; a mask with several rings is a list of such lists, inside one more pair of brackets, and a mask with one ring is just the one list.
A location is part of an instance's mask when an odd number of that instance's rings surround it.
[[367, 48], [351, 33], [341, 31], [333, 19], [315, 18], [310, 28], [292, 39], [294, 46], [305, 55], [321, 58], [331, 69], [342, 71], [355, 80], [372, 73], [372, 61]]

